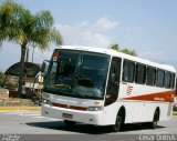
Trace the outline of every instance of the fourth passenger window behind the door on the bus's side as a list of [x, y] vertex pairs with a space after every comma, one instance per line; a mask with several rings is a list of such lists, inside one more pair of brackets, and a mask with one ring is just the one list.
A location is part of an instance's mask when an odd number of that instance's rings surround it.
[[157, 70], [157, 77], [156, 77], [156, 87], [164, 87], [164, 75], [165, 71], [163, 70]]

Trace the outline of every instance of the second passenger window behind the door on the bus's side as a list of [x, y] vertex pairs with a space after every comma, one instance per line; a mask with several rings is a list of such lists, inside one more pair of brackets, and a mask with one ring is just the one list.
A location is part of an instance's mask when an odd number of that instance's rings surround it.
[[145, 83], [145, 75], [146, 75], [146, 66], [137, 63], [136, 64], [136, 78], [135, 82], [139, 84]]

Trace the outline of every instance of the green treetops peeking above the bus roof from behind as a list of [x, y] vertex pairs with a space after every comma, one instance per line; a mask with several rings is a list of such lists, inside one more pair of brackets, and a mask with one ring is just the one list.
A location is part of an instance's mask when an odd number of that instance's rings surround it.
[[116, 43], [112, 44], [111, 49], [119, 51], [119, 52], [123, 52], [123, 53], [126, 53], [126, 54], [131, 54], [131, 56], [137, 57], [137, 54], [136, 54], [136, 52], [134, 50], [129, 50], [129, 49], [122, 49], [121, 50], [119, 46], [116, 44]]

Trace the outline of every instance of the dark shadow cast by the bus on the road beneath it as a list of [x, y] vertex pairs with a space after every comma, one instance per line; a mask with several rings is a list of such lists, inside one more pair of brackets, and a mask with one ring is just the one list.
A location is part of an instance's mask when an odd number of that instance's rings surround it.
[[[35, 128], [51, 129], [51, 130], [59, 130], [59, 131], [61, 130], [61, 131], [67, 131], [72, 133], [73, 132], [87, 133], [87, 134], [114, 133], [112, 132], [111, 127], [97, 127], [97, 125], [91, 125], [91, 124], [76, 123], [75, 125], [69, 128], [69, 127], [65, 127], [63, 121], [30, 122], [27, 124]], [[162, 128], [165, 128], [165, 127], [158, 125], [157, 130]], [[118, 133], [128, 133], [128, 132], [131, 133], [132, 131], [140, 131], [140, 130], [150, 130], [150, 129], [148, 129], [143, 124], [125, 124], [124, 130]]]

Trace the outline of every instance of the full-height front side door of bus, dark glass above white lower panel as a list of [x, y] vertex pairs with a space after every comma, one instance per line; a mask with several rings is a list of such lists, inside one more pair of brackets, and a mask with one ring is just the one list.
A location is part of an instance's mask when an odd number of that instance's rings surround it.
[[121, 64], [122, 60], [119, 58], [112, 59], [103, 113], [103, 123], [105, 124], [115, 123], [115, 117], [117, 113], [116, 101], [119, 91]]

